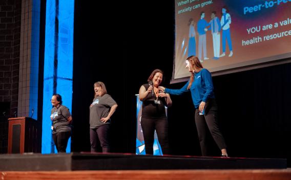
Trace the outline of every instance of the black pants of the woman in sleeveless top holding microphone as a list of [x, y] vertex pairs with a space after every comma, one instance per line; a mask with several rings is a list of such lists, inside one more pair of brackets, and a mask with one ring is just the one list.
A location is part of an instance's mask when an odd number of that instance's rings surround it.
[[146, 154], [151, 155], [154, 154], [153, 145], [155, 129], [157, 132], [158, 141], [162, 148], [163, 155], [170, 154], [167, 118], [162, 119], [141, 118], [140, 125], [143, 132], [144, 145], [146, 146]]

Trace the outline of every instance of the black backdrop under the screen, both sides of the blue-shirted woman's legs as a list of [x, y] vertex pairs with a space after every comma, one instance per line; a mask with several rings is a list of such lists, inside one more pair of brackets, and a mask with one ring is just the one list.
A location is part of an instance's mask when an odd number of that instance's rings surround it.
[[[213, 82], [218, 121], [231, 156], [291, 158], [291, 63], [216, 76]], [[183, 84], [170, 87], [182, 87]], [[184, 96], [190, 99], [190, 95]], [[172, 138], [172, 147], [177, 153], [199, 155], [194, 113], [191, 110], [193, 105], [184, 96], [172, 96], [173, 107], [169, 117], [169, 122], [173, 124], [170, 132], [175, 138]], [[186, 150], [180, 150], [179, 139], [183, 143], [189, 142], [184, 146]], [[213, 147], [210, 153], [219, 155], [212, 138], [210, 145]]]

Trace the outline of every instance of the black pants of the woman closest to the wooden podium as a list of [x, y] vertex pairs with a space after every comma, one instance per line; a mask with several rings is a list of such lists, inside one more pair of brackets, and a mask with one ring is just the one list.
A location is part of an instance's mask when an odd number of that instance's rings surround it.
[[66, 152], [68, 140], [71, 137], [71, 131], [57, 132], [53, 134], [53, 140], [57, 152]]

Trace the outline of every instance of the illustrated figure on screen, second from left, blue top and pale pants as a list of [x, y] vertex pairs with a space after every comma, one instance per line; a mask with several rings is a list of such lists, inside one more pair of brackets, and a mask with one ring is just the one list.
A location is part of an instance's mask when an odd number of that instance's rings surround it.
[[207, 51], [206, 51], [206, 31], [207, 27], [210, 26], [210, 24], [204, 19], [205, 13], [202, 11], [200, 13], [200, 20], [197, 22], [197, 31], [199, 34], [199, 42], [198, 42], [198, 58], [200, 62], [203, 62], [201, 59], [202, 55], [202, 48], [203, 48], [203, 57], [204, 60], [207, 60]]

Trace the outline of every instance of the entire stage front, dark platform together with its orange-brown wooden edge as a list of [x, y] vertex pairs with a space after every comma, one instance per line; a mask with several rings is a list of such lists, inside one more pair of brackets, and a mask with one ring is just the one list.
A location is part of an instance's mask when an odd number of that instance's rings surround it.
[[1, 154], [1, 179], [291, 179], [286, 159], [135, 154]]

